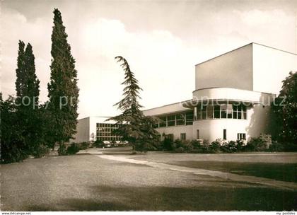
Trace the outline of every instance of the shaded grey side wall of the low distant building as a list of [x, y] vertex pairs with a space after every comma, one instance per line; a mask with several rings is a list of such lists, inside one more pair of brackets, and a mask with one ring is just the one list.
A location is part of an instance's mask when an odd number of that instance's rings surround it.
[[78, 120], [76, 126], [77, 133], [75, 139], [70, 139], [70, 142], [80, 143], [83, 141], [89, 141], [90, 139], [90, 117]]

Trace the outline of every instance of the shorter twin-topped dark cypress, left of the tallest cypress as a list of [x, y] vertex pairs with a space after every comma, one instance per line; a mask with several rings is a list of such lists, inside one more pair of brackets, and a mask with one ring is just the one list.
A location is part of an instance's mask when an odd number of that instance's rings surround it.
[[[25, 48], [25, 51], [24, 51]], [[27, 153], [37, 150], [42, 143], [42, 118], [38, 110], [39, 84], [35, 74], [35, 57], [30, 43], [25, 47], [19, 41], [18, 68], [16, 69], [16, 115], [18, 132], [22, 135]]]

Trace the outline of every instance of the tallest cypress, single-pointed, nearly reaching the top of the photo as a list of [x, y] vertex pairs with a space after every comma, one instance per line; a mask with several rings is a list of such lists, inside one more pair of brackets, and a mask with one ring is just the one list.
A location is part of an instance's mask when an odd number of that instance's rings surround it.
[[47, 86], [50, 103], [48, 110], [52, 118], [50, 136], [52, 147], [60, 145], [76, 133], [78, 117], [78, 87], [75, 60], [67, 42], [67, 34], [60, 11], [54, 9], [54, 26], [52, 28], [52, 64], [50, 66], [50, 83]]

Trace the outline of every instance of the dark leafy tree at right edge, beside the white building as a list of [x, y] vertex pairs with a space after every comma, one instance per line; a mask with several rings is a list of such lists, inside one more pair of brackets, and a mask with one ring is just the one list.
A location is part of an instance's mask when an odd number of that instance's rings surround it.
[[297, 149], [297, 72], [290, 72], [283, 81], [279, 96], [272, 103], [276, 138]]

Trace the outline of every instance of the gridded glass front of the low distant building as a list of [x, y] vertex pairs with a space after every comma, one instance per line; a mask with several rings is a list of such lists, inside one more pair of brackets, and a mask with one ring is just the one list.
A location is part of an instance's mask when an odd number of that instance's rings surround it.
[[96, 124], [96, 139], [102, 141], [120, 141], [120, 136], [115, 136], [112, 131], [117, 129], [117, 124], [97, 123]]

